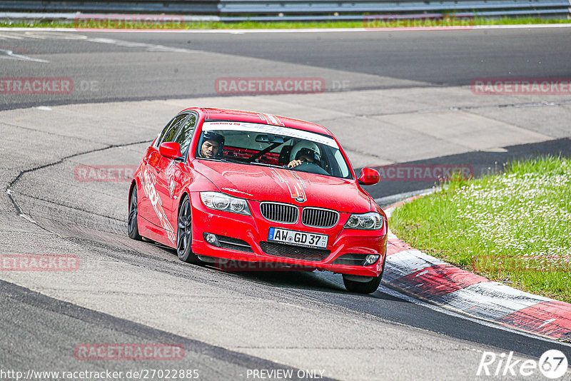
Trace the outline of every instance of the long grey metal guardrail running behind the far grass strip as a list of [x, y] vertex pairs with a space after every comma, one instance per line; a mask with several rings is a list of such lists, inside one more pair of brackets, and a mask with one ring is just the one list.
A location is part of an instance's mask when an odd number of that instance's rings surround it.
[[0, 0], [0, 12], [207, 14], [220, 21], [363, 20], [377, 14], [414, 19], [429, 13], [570, 18], [571, 0]]

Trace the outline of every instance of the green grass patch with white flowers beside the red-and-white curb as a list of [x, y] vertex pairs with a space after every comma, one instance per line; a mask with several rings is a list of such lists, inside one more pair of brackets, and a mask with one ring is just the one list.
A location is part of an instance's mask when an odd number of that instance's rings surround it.
[[465, 270], [571, 303], [571, 159], [515, 161], [453, 178], [395, 210], [399, 238]]

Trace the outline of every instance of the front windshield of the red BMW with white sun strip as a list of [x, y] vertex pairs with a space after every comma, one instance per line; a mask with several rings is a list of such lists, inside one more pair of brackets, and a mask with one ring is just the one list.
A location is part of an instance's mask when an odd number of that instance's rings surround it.
[[285, 168], [291, 163], [293, 171], [351, 178], [349, 166], [331, 136], [282, 126], [205, 121], [196, 158]]

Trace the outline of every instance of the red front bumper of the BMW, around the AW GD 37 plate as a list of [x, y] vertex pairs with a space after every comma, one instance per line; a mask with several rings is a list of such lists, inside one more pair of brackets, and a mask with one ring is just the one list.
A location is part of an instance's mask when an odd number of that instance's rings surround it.
[[[263, 218], [259, 203], [248, 201], [252, 215], [240, 215], [213, 210], [203, 205], [198, 192], [191, 193], [192, 206], [192, 250], [193, 253], [213, 258], [240, 260], [246, 262], [282, 263], [293, 268], [316, 268], [333, 273], [378, 276], [383, 268], [383, 257], [387, 245], [386, 220], [380, 230], [344, 229], [343, 225], [349, 213], [340, 213], [340, 219], [333, 228], [310, 228], [299, 221], [295, 224], [273, 223]], [[300, 248], [298, 246], [276, 244], [267, 245], [268, 231], [271, 227], [300, 230], [308, 233], [327, 234], [327, 250]], [[207, 243], [204, 233], [241, 240], [250, 246], [226, 245], [226, 248]], [[268, 248], [272, 246], [272, 248]], [[263, 249], [266, 249], [264, 251]], [[291, 248], [291, 250], [288, 250]], [[304, 257], [304, 253], [307, 255]], [[272, 254], [272, 255], [271, 255]], [[379, 259], [373, 265], [341, 265], [333, 263], [344, 254], [374, 254]], [[285, 255], [285, 256], [281, 256]], [[295, 258], [288, 258], [295, 257]]]

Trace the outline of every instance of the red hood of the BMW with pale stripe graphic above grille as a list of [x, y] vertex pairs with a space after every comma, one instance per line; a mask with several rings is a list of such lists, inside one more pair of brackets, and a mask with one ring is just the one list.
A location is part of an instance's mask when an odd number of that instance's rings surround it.
[[[194, 161], [194, 168], [223, 193], [257, 201], [315, 206], [348, 213], [370, 211], [370, 197], [355, 180], [284, 168]], [[296, 197], [305, 199], [303, 203]]]

